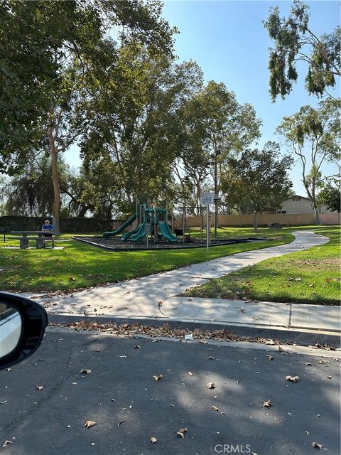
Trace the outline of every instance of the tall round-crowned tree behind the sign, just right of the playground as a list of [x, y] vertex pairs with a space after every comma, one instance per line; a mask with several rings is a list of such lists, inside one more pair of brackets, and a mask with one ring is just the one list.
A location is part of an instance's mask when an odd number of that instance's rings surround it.
[[227, 90], [222, 82], [210, 80], [185, 102], [185, 141], [180, 159], [185, 175], [193, 182], [198, 208], [201, 188], [207, 179], [216, 178], [219, 193], [228, 157], [238, 154], [259, 137], [260, 124], [254, 107], [248, 103], [240, 105], [234, 92]]

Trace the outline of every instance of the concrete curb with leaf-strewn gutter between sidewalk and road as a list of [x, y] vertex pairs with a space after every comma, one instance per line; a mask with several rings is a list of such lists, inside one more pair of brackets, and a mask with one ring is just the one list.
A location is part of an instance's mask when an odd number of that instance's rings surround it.
[[168, 318], [153, 318], [143, 316], [84, 316], [82, 314], [48, 314], [49, 323], [76, 323], [85, 321], [87, 323], [114, 323], [121, 324], [134, 324], [139, 323], [143, 326], [163, 326], [168, 323], [171, 328], [185, 327], [190, 330], [199, 328], [203, 331], [226, 330], [231, 331], [235, 335], [251, 337], [251, 338], [273, 338], [278, 339], [281, 343], [296, 343], [300, 346], [313, 346], [316, 343], [320, 345], [329, 345], [333, 348], [340, 348], [340, 333], [328, 331], [313, 331], [308, 329], [286, 328], [280, 326], [261, 326], [261, 325], [248, 325], [239, 323], [228, 322], [215, 322], [215, 321], [193, 321], [193, 320], [179, 320]]

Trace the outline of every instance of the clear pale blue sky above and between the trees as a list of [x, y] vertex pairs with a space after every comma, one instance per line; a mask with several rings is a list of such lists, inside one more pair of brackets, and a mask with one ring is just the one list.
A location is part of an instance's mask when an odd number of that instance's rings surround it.
[[[306, 1], [310, 6], [310, 28], [320, 36], [340, 25], [338, 1]], [[263, 120], [259, 146], [277, 140], [274, 131], [284, 115], [295, 114], [303, 105], [316, 106], [304, 88], [305, 67], [301, 65], [299, 80], [286, 100], [272, 103], [269, 95], [268, 48], [272, 45], [261, 21], [266, 19], [271, 6], [279, 6], [281, 16], [288, 16], [291, 1], [214, 1], [168, 0], [164, 2], [163, 17], [180, 34], [175, 38], [178, 61], [195, 60], [202, 68], [205, 80], [224, 82], [237, 95], [239, 103], [254, 105]], [[340, 96], [340, 85], [330, 90]], [[284, 150], [283, 150], [284, 151]], [[72, 166], [79, 164], [77, 150], [65, 155]], [[328, 173], [331, 168], [325, 168]], [[291, 172], [293, 189], [305, 196], [300, 168]]]

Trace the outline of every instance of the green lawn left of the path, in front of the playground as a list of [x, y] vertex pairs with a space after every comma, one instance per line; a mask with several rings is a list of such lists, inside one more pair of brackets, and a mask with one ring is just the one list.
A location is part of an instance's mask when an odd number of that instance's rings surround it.
[[[293, 240], [291, 230], [294, 229], [262, 228], [256, 235], [274, 238], [273, 241], [212, 247], [209, 252], [205, 248], [109, 252], [72, 240], [72, 234], [63, 234], [56, 240], [55, 245], [63, 246], [63, 250], [10, 250], [5, 247], [18, 246], [19, 241], [6, 235], [6, 243], [0, 240], [0, 289], [13, 292], [72, 290], [118, 282], [236, 252], [282, 245]], [[192, 233], [200, 235], [199, 231]], [[243, 237], [255, 233], [252, 228], [223, 228], [218, 230], [218, 235], [220, 238]]]

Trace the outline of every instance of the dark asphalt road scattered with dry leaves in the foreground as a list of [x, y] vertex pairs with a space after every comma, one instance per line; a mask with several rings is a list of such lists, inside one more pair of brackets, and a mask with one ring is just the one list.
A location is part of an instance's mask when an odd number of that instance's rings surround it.
[[6, 455], [340, 454], [332, 357], [52, 331], [0, 390]]

